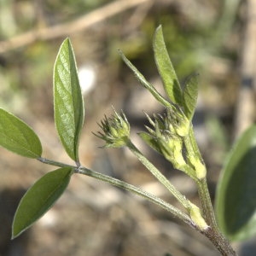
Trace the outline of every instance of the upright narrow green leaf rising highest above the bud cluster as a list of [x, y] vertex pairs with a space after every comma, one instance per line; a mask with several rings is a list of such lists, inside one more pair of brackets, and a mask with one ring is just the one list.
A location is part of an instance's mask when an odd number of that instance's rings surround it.
[[162, 26], [159, 26], [154, 33], [153, 49], [154, 60], [163, 81], [166, 94], [173, 103], [182, 107], [182, 89], [166, 49]]

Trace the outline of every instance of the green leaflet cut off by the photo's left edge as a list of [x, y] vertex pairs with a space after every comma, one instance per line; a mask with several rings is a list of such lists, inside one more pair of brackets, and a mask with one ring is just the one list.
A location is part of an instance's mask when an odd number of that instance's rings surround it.
[[38, 158], [42, 154], [42, 145], [32, 128], [2, 108], [0, 108], [0, 145], [29, 158]]

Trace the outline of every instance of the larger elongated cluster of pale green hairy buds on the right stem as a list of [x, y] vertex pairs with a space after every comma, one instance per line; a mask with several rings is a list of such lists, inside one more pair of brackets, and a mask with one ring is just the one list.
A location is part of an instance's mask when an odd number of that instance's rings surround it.
[[[148, 134], [143, 134], [143, 140], [148, 145], [163, 154], [172, 166], [187, 173], [190, 177], [198, 180], [206, 176], [206, 166], [201, 162], [201, 155], [192, 146], [189, 129], [190, 121], [183, 111], [172, 104], [166, 108], [166, 114], [154, 115], [154, 120], [147, 115], [148, 121], [153, 128], [148, 129]], [[183, 151], [186, 160], [183, 157]]]

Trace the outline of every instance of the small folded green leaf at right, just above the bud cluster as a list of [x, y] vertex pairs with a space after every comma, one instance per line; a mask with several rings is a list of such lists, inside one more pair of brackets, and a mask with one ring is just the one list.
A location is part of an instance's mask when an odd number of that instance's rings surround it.
[[187, 118], [191, 120], [195, 113], [195, 107], [198, 96], [197, 75], [190, 76], [185, 82], [183, 90], [183, 107]]

